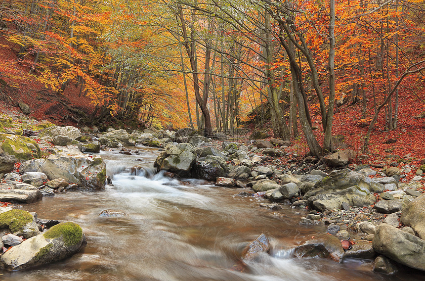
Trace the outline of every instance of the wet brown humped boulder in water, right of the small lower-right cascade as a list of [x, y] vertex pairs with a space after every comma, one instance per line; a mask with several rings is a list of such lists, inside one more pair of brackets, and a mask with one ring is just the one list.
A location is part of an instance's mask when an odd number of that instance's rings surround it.
[[330, 258], [340, 262], [344, 256], [344, 249], [340, 239], [331, 234], [315, 234], [304, 244], [295, 247], [294, 256], [298, 258]]

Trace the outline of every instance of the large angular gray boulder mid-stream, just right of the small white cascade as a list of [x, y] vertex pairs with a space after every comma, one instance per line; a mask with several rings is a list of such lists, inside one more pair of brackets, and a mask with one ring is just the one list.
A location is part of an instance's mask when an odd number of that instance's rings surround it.
[[179, 175], [187, 175], [196, 156], [195, 148], [189, 143], [167, 144], [166, 150], [161, 152], [155, 160], [154, 167], [158, 170], [166, 170]]

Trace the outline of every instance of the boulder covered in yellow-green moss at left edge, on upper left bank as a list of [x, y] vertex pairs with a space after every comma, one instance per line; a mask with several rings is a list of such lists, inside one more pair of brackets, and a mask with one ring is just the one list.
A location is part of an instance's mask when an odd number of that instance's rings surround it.
[[7, 155], [14, 155], [19, 162], [42, 157], [37, 142], [23, 136], [0, 133], [0, 148]]

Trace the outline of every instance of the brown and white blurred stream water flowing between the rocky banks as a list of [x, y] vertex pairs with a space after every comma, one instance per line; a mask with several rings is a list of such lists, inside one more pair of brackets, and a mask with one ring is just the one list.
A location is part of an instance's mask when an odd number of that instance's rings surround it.
[[[291, 258], [303, 238], [324, 226], [298, 225], [305, 211], [287, 206], [260, 208], [260, 198], [233, 196], [240, 189], [214, 187], [200, 180], [181, 184], [154, 174], [158, 152], [141, 155], [102, 152], [114, 186], [97, 192], [76, 191], [24, 205], [40, 218], [72, 220], [83, 228], [87, 246], [73, 257], [39, 269], [2, 272], [10, 281], [420, 281], [406, 272], [386, 277], [371, 272], [371, 262]], [[131, 167], [139, 169], [131, 169]], [[18, 206], [15, 206], [19, 207]], [[99, 217], [103, 210], [125, 217]], [[243, 248], [261, 233], [272, 250], [261, 263], [238, 264]]]

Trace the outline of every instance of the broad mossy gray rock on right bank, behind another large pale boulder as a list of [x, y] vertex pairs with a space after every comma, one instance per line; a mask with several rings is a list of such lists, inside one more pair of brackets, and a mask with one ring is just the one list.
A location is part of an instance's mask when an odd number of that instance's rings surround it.
[[352, 186], [359, 186], [370, 190], [371, 179], [361, 173], [350, 169], [332, 171], [329, 176], [318, 181], [315, 187], [328, 189], [344, 189]]

